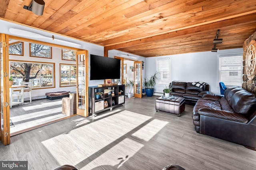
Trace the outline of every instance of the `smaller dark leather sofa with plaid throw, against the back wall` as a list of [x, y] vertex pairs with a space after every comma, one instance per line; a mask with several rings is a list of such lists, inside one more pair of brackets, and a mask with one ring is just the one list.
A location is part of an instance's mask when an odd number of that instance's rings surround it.
[[192, 83], [172, 81], [169, 87], [172, 87], [170, 95], [184, 97], [186, 104], [194, 105], [204, 94], [209, 94], [209, 85], [206, 83], [200, 88]]

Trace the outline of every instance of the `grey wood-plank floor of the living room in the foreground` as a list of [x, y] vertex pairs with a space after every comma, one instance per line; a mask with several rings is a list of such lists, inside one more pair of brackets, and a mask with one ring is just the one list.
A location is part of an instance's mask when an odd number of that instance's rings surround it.
[[71, 164], [80, 170], [255, 170], [256, 152], [196, 133], [193, 106], [181, 117], [156, 112], [155, 99], [130, 99], [96, 117], [74, 116], [11, 137], [0, 160], [28, 160], [29, 170]]

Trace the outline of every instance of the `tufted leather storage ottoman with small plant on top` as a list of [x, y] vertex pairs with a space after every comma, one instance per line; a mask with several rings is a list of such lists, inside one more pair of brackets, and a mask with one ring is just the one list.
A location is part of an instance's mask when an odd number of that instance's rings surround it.
[[164, 111], [173, 113], [180, 117], [180, 113], [185, 110], [185, 98], [174, 97], [174, 99], [163, 99], [159, 97], [156, 99], [156, 111]]

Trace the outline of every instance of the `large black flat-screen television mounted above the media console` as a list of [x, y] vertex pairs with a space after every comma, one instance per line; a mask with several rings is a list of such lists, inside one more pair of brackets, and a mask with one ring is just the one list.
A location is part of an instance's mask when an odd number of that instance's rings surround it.
[[121, 60], [91, 54], [90, 80], [120, 79]]

